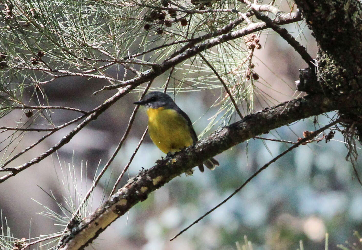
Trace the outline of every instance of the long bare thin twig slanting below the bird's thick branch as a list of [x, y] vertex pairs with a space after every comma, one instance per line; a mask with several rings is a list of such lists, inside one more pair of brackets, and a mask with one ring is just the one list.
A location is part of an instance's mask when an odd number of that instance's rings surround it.
[[318, 135], [320, 132], [323, 132], [324, 130], [326, 130], [327, 128], [333, 126], [334, 124], [340, 122], [340, 118], [335, 120], [332, 123], [329, 123], [328, 125], [320, 128], [319, 130], [316, 130], [314, 132], [312, 132], [310, 135], [304, 137], [302, 140], [298, 141], [298, 143], [292, 145], [290, 148], [288, 148], [286, 151], [282, 152], [281, 154], [279, 154], [278, 156], [274, 157], [271, 161], [269, 161], [267, 164], [265, 164], [264, 166], [262, 166], [260, 169], [258, 169], [258, 171], [256, 171], [251, 177], [249, 177], [244, 183], [243, 185], [241, 185], [240, 187], [238, 187], [231, 195], [229, 195], [226, 199], [224, 199], [222, 202], [220, 202], [218, 205], [216, 205], [214, 208], [212, 208], [210, 211], [208, 211], [207, 213], [205, 213], [203, 216], [199, 217], [199, 219], [195, 220], [192, 224], [190, 224], [188, 227], [186, 227], [185, 229], [183, 229], [181, 232], [179, 232], [178, 234], [176, 234], [176, 236], [172, 237], [170, 239], [170, 241], [174, 240], [177, 236], [179, 236], [180, 234], [182, 234], [183, 232], [185, 232], [186, 230], [188, 230], [191, 226], [195, 225], [196, 223], [198, 223], [200, 220], [202, 220], [205, 216], [207, 216], [209, 213], [211, 213], [212, 211], [214, 211], [216, 208], [220, 207], [222, 204], [224, 204], [225, 202], [227, 202], [232, 196], [234, 196], [237, 192], [239, 192], [245, 185], [247, 185], [248, 182], [250, 182], [254, 177], [256, 177], [261, 171], [265, 170], [266, 168], [268, 168], [268, 166], [270, 164], [272, 164], [273, 162], [275, 162], [276, 160], [278, 160], [280, 157], [282, 157], [283, 155], [285, 155], [286, 153], [290, 152], [292, 149], [298, 147], [300, 144], [305, 143], [307, 140], [310, 140], [311, 138], [313, 138], [314, 136]]

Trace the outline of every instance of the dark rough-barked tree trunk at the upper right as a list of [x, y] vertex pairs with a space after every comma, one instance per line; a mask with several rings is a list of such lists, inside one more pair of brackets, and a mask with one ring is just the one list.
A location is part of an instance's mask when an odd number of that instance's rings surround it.
[[358, 0], [295, 0], [295, 3], [319, 45], [316, 75], [307, 70], [308, 76], [302, 76], [307, 86], [302, 89], [308, 94], [323, 92], [337, 100], [349, 96], [348, 102], [354, 102], [355, 108], [338, 110], [350, 120], [349, 126], [357, 128], [361, 141], [362, 109], [356, 93], [362, 91], [362, 3]]

